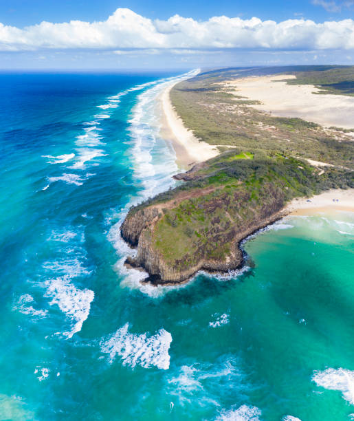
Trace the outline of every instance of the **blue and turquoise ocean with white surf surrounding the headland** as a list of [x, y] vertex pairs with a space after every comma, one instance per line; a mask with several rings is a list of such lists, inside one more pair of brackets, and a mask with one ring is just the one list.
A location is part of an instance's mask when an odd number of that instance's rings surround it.
[[275, 224], [228, 277], [124, 268], [126, 211], [178, 171], [179, 77], [0, 75], [0, 420], [351, 420], [352, 213]]

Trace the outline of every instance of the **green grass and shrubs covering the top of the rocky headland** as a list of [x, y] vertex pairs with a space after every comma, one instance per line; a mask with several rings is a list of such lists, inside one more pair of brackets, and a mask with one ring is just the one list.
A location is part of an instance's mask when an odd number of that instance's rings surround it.
[[[195, 180], [150, 202], [176, 203], [164, 210], [153, 230], [155, 250], [174, 270], [195, 266], [201, 259], [224, 261], [238, 231], [278, 212], [293, 197], [354, 186], [348, 171], [332, 170], [322, 177], [295, 158], [255, 153], [252, 160], [239, 160], [239, 155], [214, 158]], [[191, 194], [179, 201], [181, 191]]]

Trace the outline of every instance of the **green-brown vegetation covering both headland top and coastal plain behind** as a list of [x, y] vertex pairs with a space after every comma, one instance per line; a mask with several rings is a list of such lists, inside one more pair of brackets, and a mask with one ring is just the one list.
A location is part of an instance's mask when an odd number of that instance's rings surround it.
[[[151, 231], [152, 244], [176, 270], [192, 267], [201, 259], [225, 260], [238, 233], [274, 215], [293, 197], [354, 187], [349, 169], [353, 168], [353, 141], [345, 133], [247, 107], [249, 101], [235, 99], [222, 85], [215, 85], [233, 74], [239, 71], [201, 74], [176, 85], [171, 99], [197, 137], [236, 148], [225, 149], [206, 162], [192, 173], [192, 180], [131, 210], [135, 213], [162, 204], [164, 216]], [[302, 158], [334, 166], [323, 172]], [[178, 200], [181, 192], [190, 197]]]

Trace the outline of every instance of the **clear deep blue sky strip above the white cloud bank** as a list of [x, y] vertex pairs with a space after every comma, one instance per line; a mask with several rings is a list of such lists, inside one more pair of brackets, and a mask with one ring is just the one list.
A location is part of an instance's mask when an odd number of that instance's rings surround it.
[[344, 1], [329, 0], [324, 3], [329, 5], [329, 11], [323, 6], [316, 6], [311, 0], [11, 0], [0, 3], [0, 21], [21, 28], [41, 21], [104, 20], [118, 8], [129, 8], [151, 19], [168, 19], [174, 14], [197, 20], [225, 14], [228, 17], [258, 17], [275, 21], [304, 17], [316, 22], [354, 17], [353, 6], [342, 6], [333, 12], [331, 3], [340, 7]]

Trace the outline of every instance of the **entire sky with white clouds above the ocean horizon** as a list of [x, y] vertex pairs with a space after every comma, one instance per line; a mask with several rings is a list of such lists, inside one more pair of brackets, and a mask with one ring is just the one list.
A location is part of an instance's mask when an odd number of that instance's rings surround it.
[[0, 69], [354, 64], [354, 0], [0, 2]]

